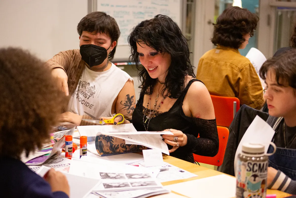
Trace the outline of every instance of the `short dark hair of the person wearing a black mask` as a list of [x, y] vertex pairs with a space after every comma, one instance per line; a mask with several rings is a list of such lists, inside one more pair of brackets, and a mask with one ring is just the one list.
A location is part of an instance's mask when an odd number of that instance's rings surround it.
[[116, 46], [108, 55], [108, 60], [113, 60], [120, 36], [118, 24], [113, 17], [107, 15], [105, 12], [91, 12], [83, 17], [77, 25], [77, 32], [79, 36], [81, 36], [83, 31], [87, 31], [93, 35], [97, 34], [98, 32], [105, 33], [110, 36], [111, 43], [116, 41]]

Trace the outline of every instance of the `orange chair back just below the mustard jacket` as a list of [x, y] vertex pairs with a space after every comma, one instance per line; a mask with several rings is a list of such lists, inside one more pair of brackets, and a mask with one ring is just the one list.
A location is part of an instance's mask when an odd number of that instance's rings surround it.
[[211, 95], [218, 126], [229, 127], [235, 114], [239, 110], [239, 99]]

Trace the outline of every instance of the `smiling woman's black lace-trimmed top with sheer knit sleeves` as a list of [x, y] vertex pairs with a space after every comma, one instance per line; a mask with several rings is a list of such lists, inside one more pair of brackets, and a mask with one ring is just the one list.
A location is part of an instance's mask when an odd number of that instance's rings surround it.
[[[194, 162], [192, 153], [213, 157], [218, 153], [219, 149], [216, 119], [205, 120], [188, 117], [183, 112], [183, 100], [190, 85], [194, 81], [200, 80], [192, 79], [189, 81], [181, 96], [176, 100], [170, 110], [155, 114], [148, 126], [149, 131], [175, 129], [185, 133], [187, 136], [187, 144], [182, 147], [180, 146], [176, 151], [170, 153], [170, 155], [192, 163]], [[141, 92], [136, 108], [133, 111], [132, 123], [137, 131], [145, 131], [143, 123], [145, 111], [145, 107], [143, 107], [143, 98], [144, 94]], [[199, 138], [197, 138], [198, 135], [200, 135]], [[169, 149], [172, 147], [173, 146], [168, 145]]]

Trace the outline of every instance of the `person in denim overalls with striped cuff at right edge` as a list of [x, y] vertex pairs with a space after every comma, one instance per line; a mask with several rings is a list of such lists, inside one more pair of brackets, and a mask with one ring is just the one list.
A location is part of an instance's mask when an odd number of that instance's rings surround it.
[[296, 194], [296, 49], [267, 60], [259, 74], [266, 82], [266, 122], [275, 131], [272, 141], [277, 147], [269, 156], [267, 185]]

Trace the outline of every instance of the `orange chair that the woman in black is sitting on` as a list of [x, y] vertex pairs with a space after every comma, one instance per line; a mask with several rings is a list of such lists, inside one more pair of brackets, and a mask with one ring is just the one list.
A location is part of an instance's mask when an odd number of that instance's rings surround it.
[[217, 127], [219, 136], [219, 151], [214, 157], [206, 157], [193, 154], [194, 160], [204, 164], [210, 164], [214, 166], [221, 166], [224, 159], [226, 145], [229, 136], [229, 130], [226, 127]]

